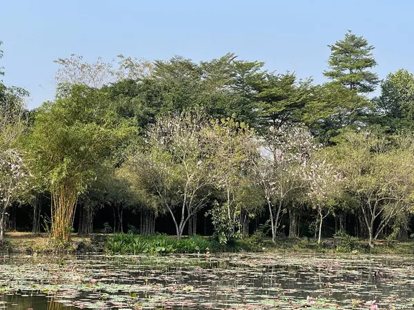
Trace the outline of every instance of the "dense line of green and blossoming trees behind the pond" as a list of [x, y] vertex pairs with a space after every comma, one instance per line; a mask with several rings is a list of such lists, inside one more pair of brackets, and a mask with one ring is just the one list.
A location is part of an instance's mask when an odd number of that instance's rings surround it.
[[220, 242], [259, 226], [274, 241], [320, 242], [324, 227], [371, 247], [408, 238], [414, 75], [380, 81], [374, 47], [352, 32], [328, 48], [322, 85], [235, 54], [72, 55], [56, 61], [55, 100], [32, 111], [26, 91], [0, 83], [0, 239], [21, 206], [34, 232], [63, 241], [127, 226], [153, 234], [160, 218], [181, 238], [199, 233], [200, 214]]

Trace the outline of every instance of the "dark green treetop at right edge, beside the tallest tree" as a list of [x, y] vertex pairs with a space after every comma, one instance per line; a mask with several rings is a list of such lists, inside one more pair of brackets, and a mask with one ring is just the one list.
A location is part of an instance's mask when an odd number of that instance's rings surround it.
[[411, 130], [414, 120], [414, 74], [400, 69], [381, 83], [381, 95], [375, 99], [375, 123], [396, 130]]

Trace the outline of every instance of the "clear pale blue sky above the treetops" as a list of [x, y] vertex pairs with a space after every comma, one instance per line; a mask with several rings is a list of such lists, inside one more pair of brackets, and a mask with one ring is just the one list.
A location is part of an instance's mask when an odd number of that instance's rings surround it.
[[195, 61], [235, 52], [322, 83], [326, 45], [353, 30], [375, 45], [383, 79], [414, 71], [411, 0], [10, 0], [0, 5], [6, 85], [31, 93], [29, 107], [53, 99], [53, 61], [81, 54], [110, 61], [117, 54]]

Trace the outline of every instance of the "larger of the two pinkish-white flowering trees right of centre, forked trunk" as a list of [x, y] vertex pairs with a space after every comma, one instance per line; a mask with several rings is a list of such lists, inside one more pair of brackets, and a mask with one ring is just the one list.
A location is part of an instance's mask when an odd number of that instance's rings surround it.
[[318, 149], [319, 145], [304, 127], [270, 127], [265, 135], [257, 176], [270, 213], [273, 242], [287, 203], [306, 187], [305, 168]]

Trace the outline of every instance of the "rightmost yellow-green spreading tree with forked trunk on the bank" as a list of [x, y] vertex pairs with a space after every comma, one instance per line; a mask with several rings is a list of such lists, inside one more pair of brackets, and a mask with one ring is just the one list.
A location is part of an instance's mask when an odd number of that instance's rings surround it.
[[332, 149], [345, 190], [357, 200], [370, 247], [387, 225], [413, 209], [412, 138], [346, 132]]

